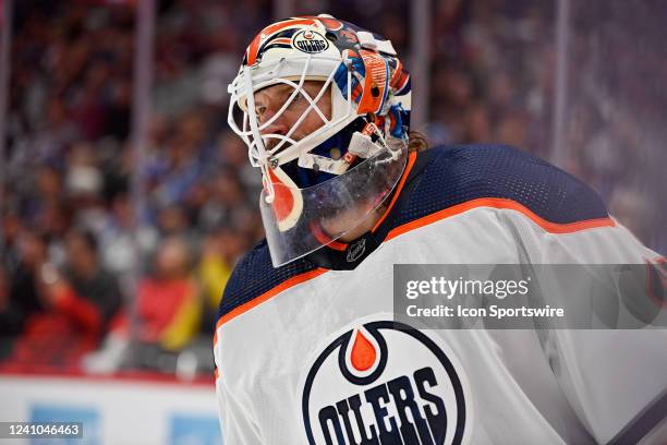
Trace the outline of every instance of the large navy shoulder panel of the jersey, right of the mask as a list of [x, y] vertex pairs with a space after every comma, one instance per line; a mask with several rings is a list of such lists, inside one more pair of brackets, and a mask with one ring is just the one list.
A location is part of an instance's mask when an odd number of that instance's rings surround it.
[[[507, 145], [432, 148], [395, 226], [481, 197], [516, 201], [556, 224], [605, 218], [607, 208], [586, 184]], [[427, 154], [425, 152], [424, 154]]]

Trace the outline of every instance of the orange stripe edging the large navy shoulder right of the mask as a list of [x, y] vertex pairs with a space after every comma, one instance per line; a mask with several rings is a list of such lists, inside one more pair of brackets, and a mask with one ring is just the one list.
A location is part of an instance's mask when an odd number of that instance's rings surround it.
[[397, 227], [391, 230], [385, 241], [388, 241], [392, 238], [407, 233], [411, 230], [419, 229], [420, 227], [428, 226], [429, 224], [439, 221], [440, 219], [449, 218], [454, 215], [462, 214], [468, 211], [472, 211], [473, 208], [478, 207], [492, 207], [492, 208], [507, 208], [511, 211], [519, 212], [524, 216], [527, 216], [533, 220], [537, 226], [542, 227], [544, 230], [550, 233], [572, 233], [580, 230], [593, 229], [596, 227], [615, 227], [616, 224], [609, 217], [606, 218], [597, 218], [597, 219], [587, 219], [584, 221], [577, 222], [568, 222], [568, 224], [558, 224], [548, 221], [541, 216], [537, 216], [531, 209], [525, 207], [522, 204], [519, 204], [516, 201], [507, 200], [502, 197], [480, 197], [477, 200], [468, 201], [462, 204], [458, 204], [442, 211], [436, 212], [434, 214], [424, 216], [423, 218], [416, 219], [414, 221], [410, 221], [402, 226]]

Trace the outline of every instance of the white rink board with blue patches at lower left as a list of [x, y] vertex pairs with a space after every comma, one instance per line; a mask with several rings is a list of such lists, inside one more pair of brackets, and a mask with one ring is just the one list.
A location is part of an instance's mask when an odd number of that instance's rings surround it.
[[32, 421], [40, 410], [54, 417], [84, 412], [84, 440], [70, 441], [80, 445], [221, 442], [213, 383], [3, 376], [0, 400], [0, 421]]

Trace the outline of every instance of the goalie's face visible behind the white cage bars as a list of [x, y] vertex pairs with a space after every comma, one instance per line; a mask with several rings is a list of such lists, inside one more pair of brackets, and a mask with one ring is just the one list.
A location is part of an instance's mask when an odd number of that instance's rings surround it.
[[[306, 81], [304, 82], [303, 89], [315, 99], [322, 89], [322, 82]], [[290, 85], [280, 84], [274, 85], [268, 88], [260, 89], [255, 93], [255, 112], [257, 113], [257, 121], [259, 125], [267, 122], [276, 115], [282, 107], [282, 105], [289, 99], [290, 95], [294, 92], [294, 88]], [[308, 108], [310, 103], [302, 94], [298, 94], [292, 100], [290, 106], [280, 115], [270, 125], [262, 130], [262, 134], [280, 134], [286, 135], [294, 123], [301, 118], [301, 116]], [[319, 100], [317, 107], [327, 119], [331, 119], [331, 94], [325, 92]], [[294, 132], [291, 134], [291, 139], [299, 141], [313, 133], [315, 130], [324, 125], [323, 119], [317, 115], [314, 109], [308, 110], [305, 119], [296, 127]], [[272, 148], [280, 142], [278, 139], [268, 139], [266, 142], [267, 148]]]

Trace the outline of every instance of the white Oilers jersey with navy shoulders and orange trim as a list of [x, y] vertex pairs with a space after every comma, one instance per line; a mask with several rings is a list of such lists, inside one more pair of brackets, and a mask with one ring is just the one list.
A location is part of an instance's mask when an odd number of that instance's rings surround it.
[[280, 268], [263, 243], [237, 266], [214, 339], [223, 442], [664, 443], [665, 329], [545, 341], [392, 323], [395, 264], [645, 261], [660, 264], [594, 192], [537, 158], [487, 145], [412, 154], [372, 232]]

